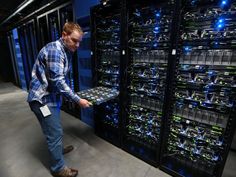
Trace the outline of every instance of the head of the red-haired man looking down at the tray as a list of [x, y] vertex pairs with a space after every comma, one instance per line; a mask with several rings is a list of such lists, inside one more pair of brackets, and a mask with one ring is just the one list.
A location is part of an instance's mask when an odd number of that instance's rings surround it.
[[82, 41], [83, 34], [84, 33], [78, 24], [67, 22], [63, 26], [62, 40], [71, 52], [75, 52]]

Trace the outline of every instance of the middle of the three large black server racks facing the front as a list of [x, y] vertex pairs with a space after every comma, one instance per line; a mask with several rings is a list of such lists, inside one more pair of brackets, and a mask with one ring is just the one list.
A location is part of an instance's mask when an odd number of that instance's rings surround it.
[[159, 164], [175, 1], [126, 2], [128, 52], [123, 148]]

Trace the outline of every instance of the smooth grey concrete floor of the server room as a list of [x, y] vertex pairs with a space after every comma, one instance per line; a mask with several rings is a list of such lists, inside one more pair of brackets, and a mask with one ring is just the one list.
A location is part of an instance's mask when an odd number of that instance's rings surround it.
[[[39, 124], [26, 102], [27, 93], [0, 82], [0, 176], [50, 177], [47, 149]], [[62, 112], [65, 155], [79, 177], [168, 177], [169, 175], [97, 137], [80, 120]], [[230, 152], [223, 177], [236, 177], [236, 153]]]

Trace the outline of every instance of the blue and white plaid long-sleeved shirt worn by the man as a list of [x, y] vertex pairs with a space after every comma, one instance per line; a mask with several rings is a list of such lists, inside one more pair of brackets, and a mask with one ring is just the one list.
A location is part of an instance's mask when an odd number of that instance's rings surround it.
[[61, 106], [61, 95], [79, 102], [66, 83], [66, 75], [70, 70], [72, 53], [65, 47], [62, 39], [43, 47], [32, 69], [28, 102], [39, 101], [48, 106]]

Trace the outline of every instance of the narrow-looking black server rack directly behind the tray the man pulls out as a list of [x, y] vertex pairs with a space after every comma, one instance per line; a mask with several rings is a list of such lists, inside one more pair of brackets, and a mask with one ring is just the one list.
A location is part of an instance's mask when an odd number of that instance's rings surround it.
[[[121, 92], [121, 2], [97, 5], [91, 9], [91, 38], [94, 86]], [[111, 101], [94, 106], [95, 132], [120, 146], [121, 94]]]

